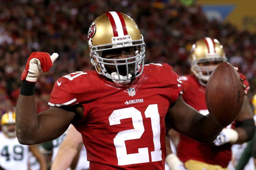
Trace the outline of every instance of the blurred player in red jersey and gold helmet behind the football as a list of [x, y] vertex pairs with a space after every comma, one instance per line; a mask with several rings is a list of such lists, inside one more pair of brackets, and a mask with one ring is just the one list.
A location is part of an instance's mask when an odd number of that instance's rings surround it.
[[[179, 77], [186, 87], [182, 98], [201, 115], [207, 115], [209, 111], [204, 96], [206, 83], [217, 65], [227, 61], [227, 58], [220, 42], [206, 37], [193, 44], [190, 59], [193, 74]], [[236, 121], [225, 127], [213, 144], [202, 144], [180, 134], [177, 156], [167, 153], [166, 162], [171, 170], [182, 169], [179, 167], [182, 167], [183, 163], [188, 170], [224, 170], [232, 157], [232, 144], [248, 141], [253, 134], [253, 112], [245, 96]]]

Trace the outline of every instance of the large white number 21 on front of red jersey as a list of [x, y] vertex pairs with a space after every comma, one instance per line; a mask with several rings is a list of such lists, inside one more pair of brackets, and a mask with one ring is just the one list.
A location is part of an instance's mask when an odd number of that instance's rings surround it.
[[[162, 160], [162, 151], [160, 150], [160, 116], [157, 104], [149, 105], [145, 111], [146, 118], [151, 118], [151, 126], [153, 130], [153, 143], [155, 151], [151, 152], [152, 162]], [[121, 124], [121, 119], [132, 118], [134, 129], [118, 132], [114, 138], [116, 147], [116, 156], [118, 165], [130, 165], [149, 162], [148, 148], [138, 148], [138, 153], [127, 154], [126, 140], [139, 139], [145, 131], [143, 126], [142, 114], [134, 107], [114, 110], [109, 116], [110, 126]]]

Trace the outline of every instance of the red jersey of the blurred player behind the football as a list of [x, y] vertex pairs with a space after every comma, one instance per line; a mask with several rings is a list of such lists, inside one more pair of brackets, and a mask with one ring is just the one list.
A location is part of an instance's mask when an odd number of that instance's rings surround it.
[[[208, 114], [209, 111], [205, 102], [205, 87], [199, 83], [196, 76], [180, 76], [179, 79], [186, 87], [186, 91], [182, 95], [184, 101], [201, 114]], [[227, 128], [231, 128], [231, 126]], [[180, 134], [177, 156], [182, 162], [192, 159], [208, 164], [221, 165], [225, 168], [232, 157], [231, 146], [230, 143], [221, 146], [206, 145]]]

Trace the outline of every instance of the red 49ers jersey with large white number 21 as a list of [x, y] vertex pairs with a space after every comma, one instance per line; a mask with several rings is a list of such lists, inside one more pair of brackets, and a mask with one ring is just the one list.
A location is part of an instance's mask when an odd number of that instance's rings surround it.
[[95, 70], [76, 72], [56, 81], [49, 105], [84, 107], [74, 123], [82, 134], [90, 170], [164, 170], [164, 118], [183, 91], [167, 64], [145, 65], [132, 83], [119, 85]]

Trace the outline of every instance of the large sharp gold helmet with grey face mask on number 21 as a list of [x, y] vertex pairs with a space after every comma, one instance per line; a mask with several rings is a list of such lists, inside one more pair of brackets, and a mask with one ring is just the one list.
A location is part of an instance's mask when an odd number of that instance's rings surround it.
[[[115, 11], [101, 14], [90, 26], [87, 39], [90, 59], [98, 74], [104, 75], [118, 84], [128, 84], [142, 74], [145, 43], [137, 24], [131, 17]], [[103, 57], [106, 50], [126, 47], [134, 47], [135, 56], [124, 59]], [[106, 66], [114, 66], [115, 71], [110, 73]], [[125, 74], [120, 73], [120, 68], [124, 68]]]

